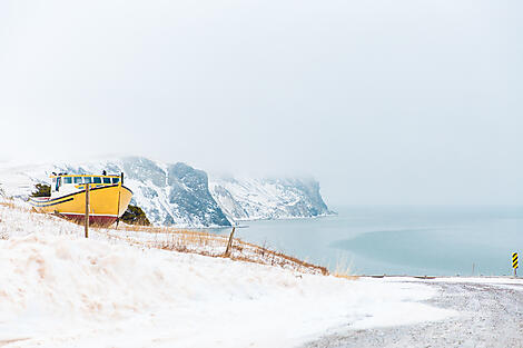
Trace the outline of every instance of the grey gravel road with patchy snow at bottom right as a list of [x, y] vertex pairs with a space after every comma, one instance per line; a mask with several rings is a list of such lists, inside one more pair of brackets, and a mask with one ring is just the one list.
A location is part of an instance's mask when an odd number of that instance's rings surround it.
[[416, 281], [435, 287], [426, 304], [461, 315], [413, 326], [351, 329], [327, 335], [303, 348], [348, 347], [523, 347], [523, 284], [493, 285]]

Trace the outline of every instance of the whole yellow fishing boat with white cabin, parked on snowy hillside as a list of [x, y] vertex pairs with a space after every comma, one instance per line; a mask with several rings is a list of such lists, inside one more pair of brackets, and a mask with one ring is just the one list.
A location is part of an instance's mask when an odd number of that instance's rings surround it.
[[110, 226], [127, 210], [132, 191], [124, 186], [121, 175], [53, 173], [50, 197], [31, 197], [39, 212], [56, 213], [76, 222], [86, 216], [86, 186], [89, 186], [89, 223]]

